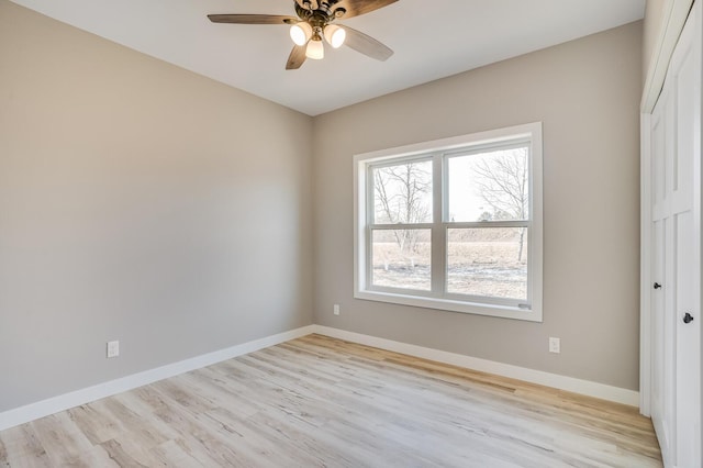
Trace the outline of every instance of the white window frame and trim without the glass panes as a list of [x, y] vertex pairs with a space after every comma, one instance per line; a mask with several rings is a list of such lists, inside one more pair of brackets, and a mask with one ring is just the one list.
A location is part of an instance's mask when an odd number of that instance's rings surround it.
[[[449, 157], [478, 149], [500, 147], [511, 143], [529, 145], [529, 220], [527, 236], [527, 303], [489, 297], [450, 294], [445, 291], [446, 245], [435, 248], [437, 242], [446, 244], [446, 230], [471, 227], [478, 223], [447, 222], [447, 164]], [[403, 163], [412, 159], [433, 160], [433, 221], [423, 224], [402, 224], [399, 227], [429, 227], [433, 237], [432, 291], [399, 290], [370, 285], [370, 219], [372, 181], [369, 168], [383, 163]], [[516, 125], [450, 138], [436, 140], [408, 146], [381, 149], [354, 156], [354, 297], [370, 301], [428, 308], [451, 312], [490, 315], [505, 319], [542, 322], [543, 311], [543, 157], [542, 122]], [[440, 189], [435, 189], [440, 187]], [[504, 225], [503, 225], [504, 224]], [[509, 227], [518, 222], [496, 223], [492, 227]], [[477, 227], [487, 227], [481, 225]], [[440, 235], [437, 235], [437, 233]], [[437, 255], [439, 253], [439, 255]], [[444, 257], [444, 258], [443, 258]], [[444, 272], [443, 272], [444, 271]], [[437, 276], [439, 274], [439, 277]]]

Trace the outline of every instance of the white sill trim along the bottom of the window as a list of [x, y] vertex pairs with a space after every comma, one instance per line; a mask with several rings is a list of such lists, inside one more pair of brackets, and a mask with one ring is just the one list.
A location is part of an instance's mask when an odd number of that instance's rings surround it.
[[419, 296], [399, 294], [380, 291], [355, 291], [356, 299], [366, 301], [388, 302], [392, 304], [412, 305], [424, 309], [435, 309], [448, 312], [469, 313], [476, 315], [489, 315], [501, 319], [523, 320], [527, 322], [542, 322], [542, 310], [520, 309], [507, 305], [493, 305], [477, 302], [456, 301], [451, 299], [423, 298]]

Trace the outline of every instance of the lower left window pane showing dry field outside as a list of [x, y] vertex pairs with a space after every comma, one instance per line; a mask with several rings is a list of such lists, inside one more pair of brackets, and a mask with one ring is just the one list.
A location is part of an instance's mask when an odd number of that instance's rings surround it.
[[388, 288], [431, 289], [429, 230], [375, 230], [371, 283]]

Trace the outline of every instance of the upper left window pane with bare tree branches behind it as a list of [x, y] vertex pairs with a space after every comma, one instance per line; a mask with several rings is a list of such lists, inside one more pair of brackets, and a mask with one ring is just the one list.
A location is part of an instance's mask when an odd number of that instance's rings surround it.
[[376, 224], [432, 222], [432, 160], [375, 167]]

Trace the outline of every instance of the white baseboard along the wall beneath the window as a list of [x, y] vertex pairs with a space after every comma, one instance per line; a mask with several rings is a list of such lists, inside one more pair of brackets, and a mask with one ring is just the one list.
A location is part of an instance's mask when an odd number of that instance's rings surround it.
[[510, 377], [531, 383], [538, 383], [559, 390], [566, 390], [588, 397], [600, 398], [602, 400], [628, 404], [631, 406], [639, 405], [639, 392], [634, 390], [622, 389], [618, 387], [612, 387], [605, 383], [598, 383], [589, 380], [576, 379], [573, 377], [559, 376], [557, 374], [544, 372], [542, 370], [534, 370], [525, 367], [512, 366], [510, 364], [480, 359], [461, 354], [447, 353], [438, 349], [426, 348], [423, 346], [410, 345], [406, 343], [394, 342], [376, 336], [362, 335], [360, 333], [347, 332], [344, 330], [332, 328], [330, 326], [313, 325], [313, 330], [314, 333], [319, 333], [321, 335], [346, 339], [348, 342], [358, 343], [366, 346], [402, 353], [410, 356], [436, 360], [438, 363], [450, 364], [454, 366], [494, 374], [498, 376]]

